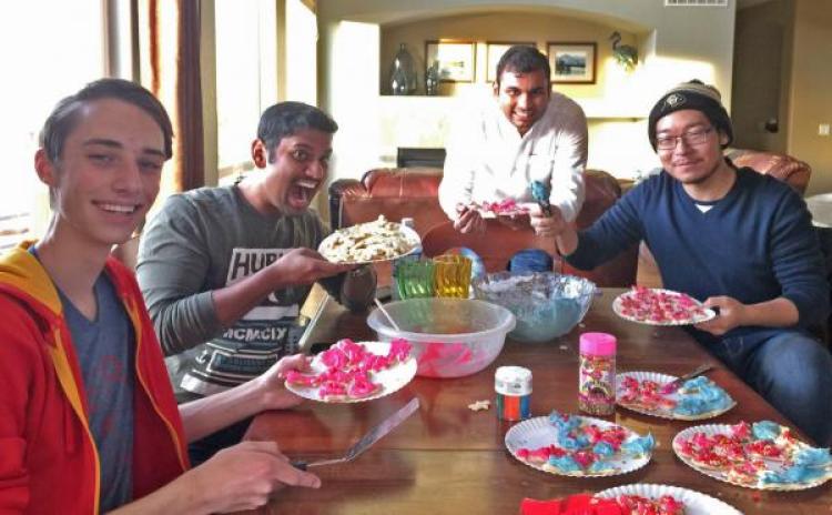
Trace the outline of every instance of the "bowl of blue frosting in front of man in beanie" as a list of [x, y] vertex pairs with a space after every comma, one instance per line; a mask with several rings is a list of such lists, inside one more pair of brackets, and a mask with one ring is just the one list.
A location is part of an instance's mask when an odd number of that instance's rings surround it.
[[509, 337], [548, 342], [571, 331], [592, 304], [596, 285], [555, 272], [498, 272], [474, 281], [477, 299], [501, 305], [517, 319]]

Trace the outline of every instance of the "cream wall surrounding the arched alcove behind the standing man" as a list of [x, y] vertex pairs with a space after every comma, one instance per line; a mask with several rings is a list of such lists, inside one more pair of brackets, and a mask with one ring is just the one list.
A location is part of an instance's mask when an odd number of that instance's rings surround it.
[[[700, 78], [714, 83], [730, 107], [735, 16], [730, 3], [728, 8], [664, 8], [660, 0], [422, 0], [418, 4], [412, 0], [318, 0], [318, 99], [341, 125], [331, 180], [359, 178], [368, 169], [389, 165], [395, 147], [440, 147], [447, 130], [450, 99], [403, 101], [379, 95], [379, 69], [389, 64], [381, 60], [382, 26], [387, 30], [427, 18], [511, 12], [572, 17], [637, 34], [642, 58], [638, 70], [615, 77], [622, 73], [615, 63], [599, 62], [599, 67], [611, 67], [603, 71], [603, 84], [597, 84], [602, 94], [581, 98], [579, 89], [575, 92], [577, 87], [568, 92], [590, 117], [589, 165], [631, 176], [657, 163], [643, 118], [669, 87]], [[361, 36], [356, 36], [356, 24], [345, 20], [362, 22]], [[504, 39], [524, 38], [520, 32]], [[598, 40], [598, 44], [600, 49], [608, 43]]]

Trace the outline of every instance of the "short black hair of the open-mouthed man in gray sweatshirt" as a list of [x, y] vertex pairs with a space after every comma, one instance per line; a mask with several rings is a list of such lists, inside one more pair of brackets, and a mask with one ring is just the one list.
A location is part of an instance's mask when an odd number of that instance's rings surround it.
[[257, 124], [257, 139], [266, 145], [268, 161], [272, 161], [272, 151], [283, 138], [304, 129], [334, 134], [338, 124], [318, 108], [303, 102], [280, 102], [263, 111]]

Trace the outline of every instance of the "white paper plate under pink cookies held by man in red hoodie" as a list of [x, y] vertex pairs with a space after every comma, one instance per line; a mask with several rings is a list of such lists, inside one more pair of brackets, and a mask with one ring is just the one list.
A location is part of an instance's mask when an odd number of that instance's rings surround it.
[[[388, 342], [356, 342], [365, 346], [368, 352], [373, 354], [386, 355], [390, 349]], [[316, 355], [311, 363], [313, 373], [321, 373], [326, 370], [326, 366], [321, 362], [321, 355]], [[359, 403], [366, 401], [373, 401], [389, 395], [413, 380], [416, 375], [416, 360], [410, 356], [407, 361], [397, 363], [389, 368], [385, 368], [379, 372], [373, 373], [373, 381], [382, 385], [382, 387], [373, 395], [352, 398], [352, 397], [337, 397], [337, 398], [321, 398], [318, 396], [318, 386], [302, 386], [297, 384], [286, 383], [286, 390], [293, 392], [301, 397], [308, 398], [310, 401], [317, 401], [326, 404], [347, 404], [347, 403]]]

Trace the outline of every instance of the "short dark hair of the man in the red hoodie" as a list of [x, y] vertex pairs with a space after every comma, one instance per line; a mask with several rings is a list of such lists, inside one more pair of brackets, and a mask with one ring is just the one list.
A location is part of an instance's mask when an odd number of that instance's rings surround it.
[[164, 155], [173, 155], [173, 125], [162, 102], [141, 85], [123, 79], [99, 79], [78, 93], [58, 102], [40, 131], [40, 145], [52, 162], [58, 162], [67, 137], [78, 124], [81, 108], [95, 100], [116, 99], [135, 105], [155, 120], [164, 137]]

